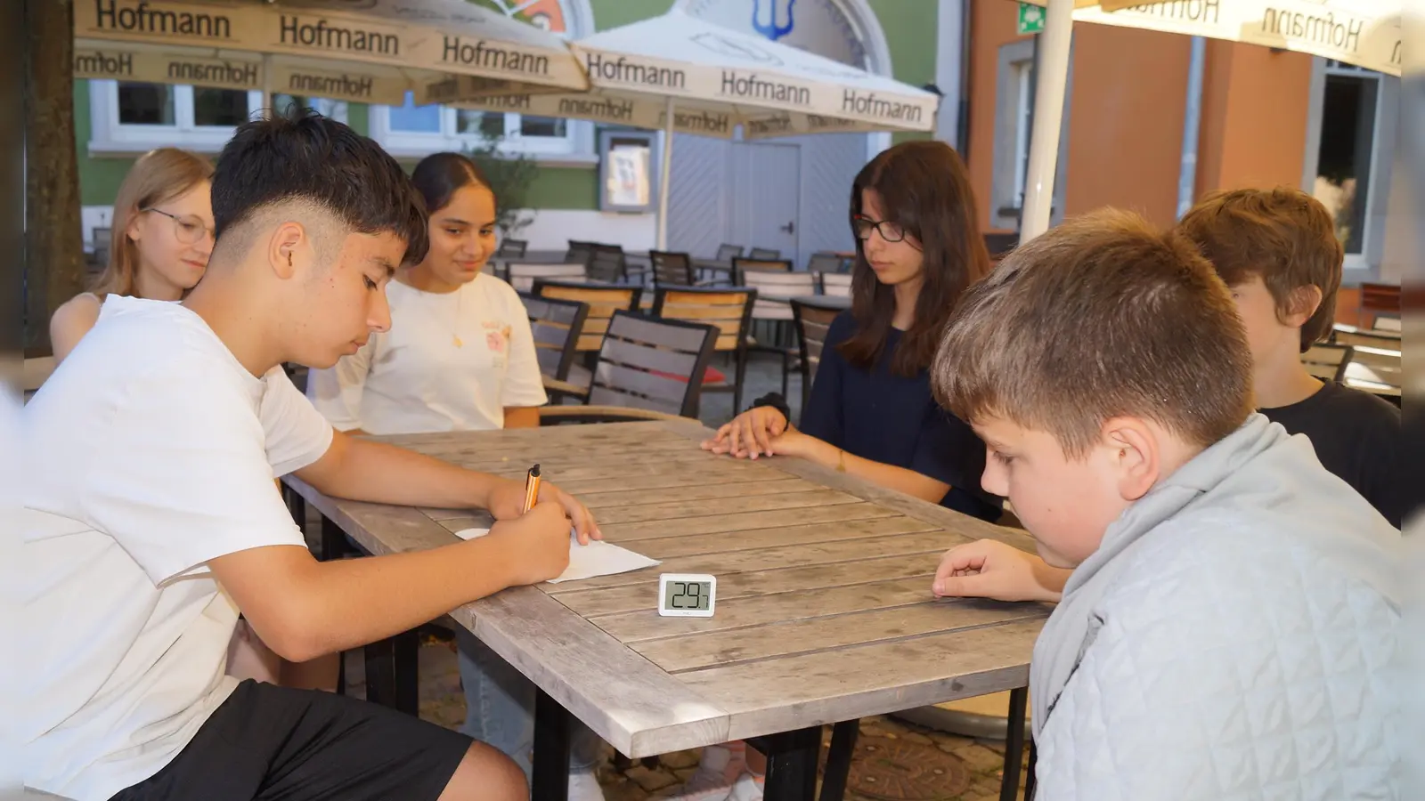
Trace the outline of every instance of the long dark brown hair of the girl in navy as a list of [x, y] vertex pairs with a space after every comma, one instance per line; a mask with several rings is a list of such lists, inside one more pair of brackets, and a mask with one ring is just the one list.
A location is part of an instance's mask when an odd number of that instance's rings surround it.
[[[979, 229], [975, 192], [965, 162], [940, 141], [898, 144], [861, 168], [851, 185], [851, 218], [861, 214], [862, 190], [875, 190], [888, 219], [921, 242], [925, 254], [915, 322], [896, 346], [891, 372], [913, 376], [931, 366], [940, 332], [965, 289], [989, 272], [989, 252]], [[854, 222], [852, 222], [854, 225]], [[841, 355], [869, 369], [881, 358], [895, 316], [895, 289], [876, 279], [856, 239], [851, 277], [851, 315], [856, 332]]]

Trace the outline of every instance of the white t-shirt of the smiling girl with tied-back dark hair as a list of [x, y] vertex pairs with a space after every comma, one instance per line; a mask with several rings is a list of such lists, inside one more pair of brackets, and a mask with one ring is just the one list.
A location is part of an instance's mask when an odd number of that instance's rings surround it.
[[339, 430], [429, 433], [504, 428], [506, 406], [543, 406], [529, 312], [479, 275], [455, 292], [386, 285], [390, 331], [336, 366], [311, 371], [306, 396]]

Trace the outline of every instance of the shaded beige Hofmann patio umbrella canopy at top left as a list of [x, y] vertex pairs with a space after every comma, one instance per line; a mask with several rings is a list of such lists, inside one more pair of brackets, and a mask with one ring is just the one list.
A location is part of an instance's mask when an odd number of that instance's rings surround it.
[[88, 0], [76, 77], [439, 103], [587, 87], [564, 43], [465, 0]]

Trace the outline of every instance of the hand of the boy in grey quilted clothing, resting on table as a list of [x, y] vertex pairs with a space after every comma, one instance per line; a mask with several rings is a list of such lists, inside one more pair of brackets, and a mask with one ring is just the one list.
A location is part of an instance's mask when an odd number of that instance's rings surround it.
[[1069, 573], [1015, 546], [976, 540], [945, 552], [932, 591], [939, 597], [1059, 601]]

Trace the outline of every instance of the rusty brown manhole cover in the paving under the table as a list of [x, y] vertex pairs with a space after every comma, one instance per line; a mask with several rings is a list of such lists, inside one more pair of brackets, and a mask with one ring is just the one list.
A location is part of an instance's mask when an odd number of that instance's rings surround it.
[[[826, 750], [822, 748], [822, 767]], [[856, 741], [846, 790], [885, 801], [935, 801], [960, 795], [970, 787], [969, 767], [935, 745], [908, 740], [865, 737]]]

